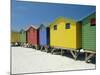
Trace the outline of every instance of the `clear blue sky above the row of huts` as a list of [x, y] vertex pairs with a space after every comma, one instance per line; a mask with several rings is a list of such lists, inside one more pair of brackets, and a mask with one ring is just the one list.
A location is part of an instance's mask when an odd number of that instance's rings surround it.
[[11, 30], [20, 31], [34, 25], [50, 24], [59, 17], [71, 18], [76, 21], [96, 11], [96, 6], [73, 5], [58, 3], [40, 3], [12, 0]]

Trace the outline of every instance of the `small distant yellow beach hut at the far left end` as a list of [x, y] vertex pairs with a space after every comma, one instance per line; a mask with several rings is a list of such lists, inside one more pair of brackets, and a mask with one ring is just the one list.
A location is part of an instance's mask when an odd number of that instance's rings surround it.
[[19, 32], [11, 31], [11, 44], [12, 44], [12, 46], [20, 44]]

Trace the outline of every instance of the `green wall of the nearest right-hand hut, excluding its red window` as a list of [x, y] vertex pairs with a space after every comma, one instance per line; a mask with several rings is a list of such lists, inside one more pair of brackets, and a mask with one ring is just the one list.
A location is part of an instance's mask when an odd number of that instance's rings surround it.
[[95, 13], [82, 20], [82, 48], [96, 51], [96, 26], [91, 26]]

